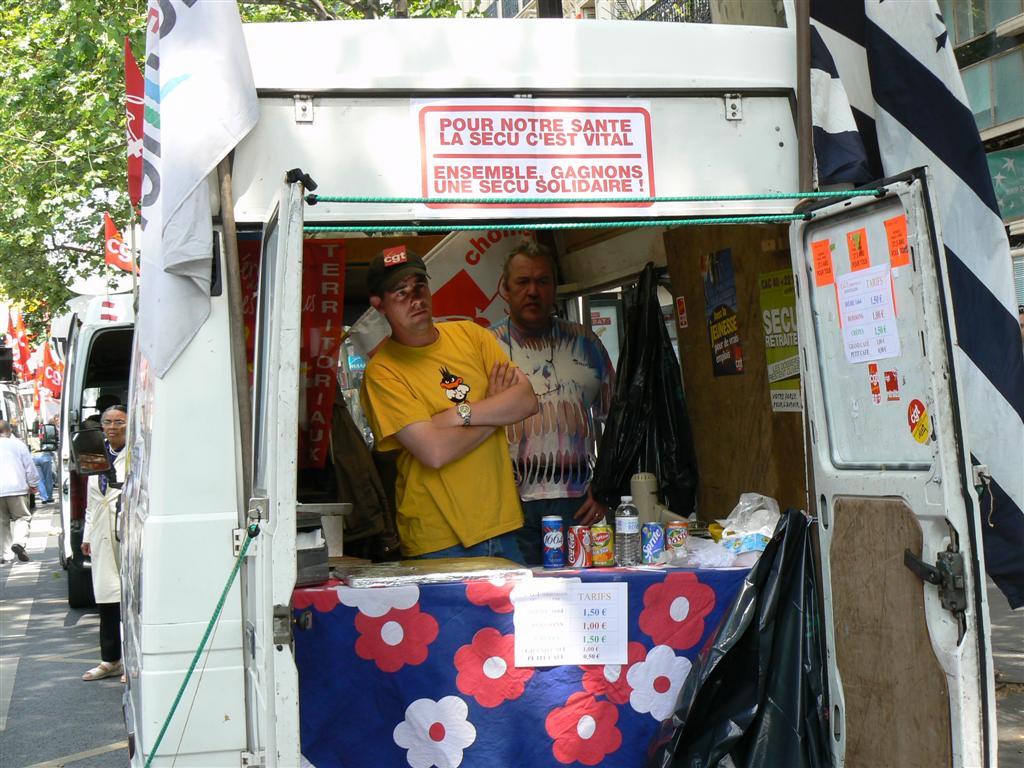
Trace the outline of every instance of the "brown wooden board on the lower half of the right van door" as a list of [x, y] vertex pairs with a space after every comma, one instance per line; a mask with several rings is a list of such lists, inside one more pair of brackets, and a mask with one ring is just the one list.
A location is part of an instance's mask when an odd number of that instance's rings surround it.
[[899, 499], [836, 500], [830, 579], [846, 700], [846, 768], [952, 764], [949, 693], [925, 624], [922, 582], [903, 565], [921, 526]]

